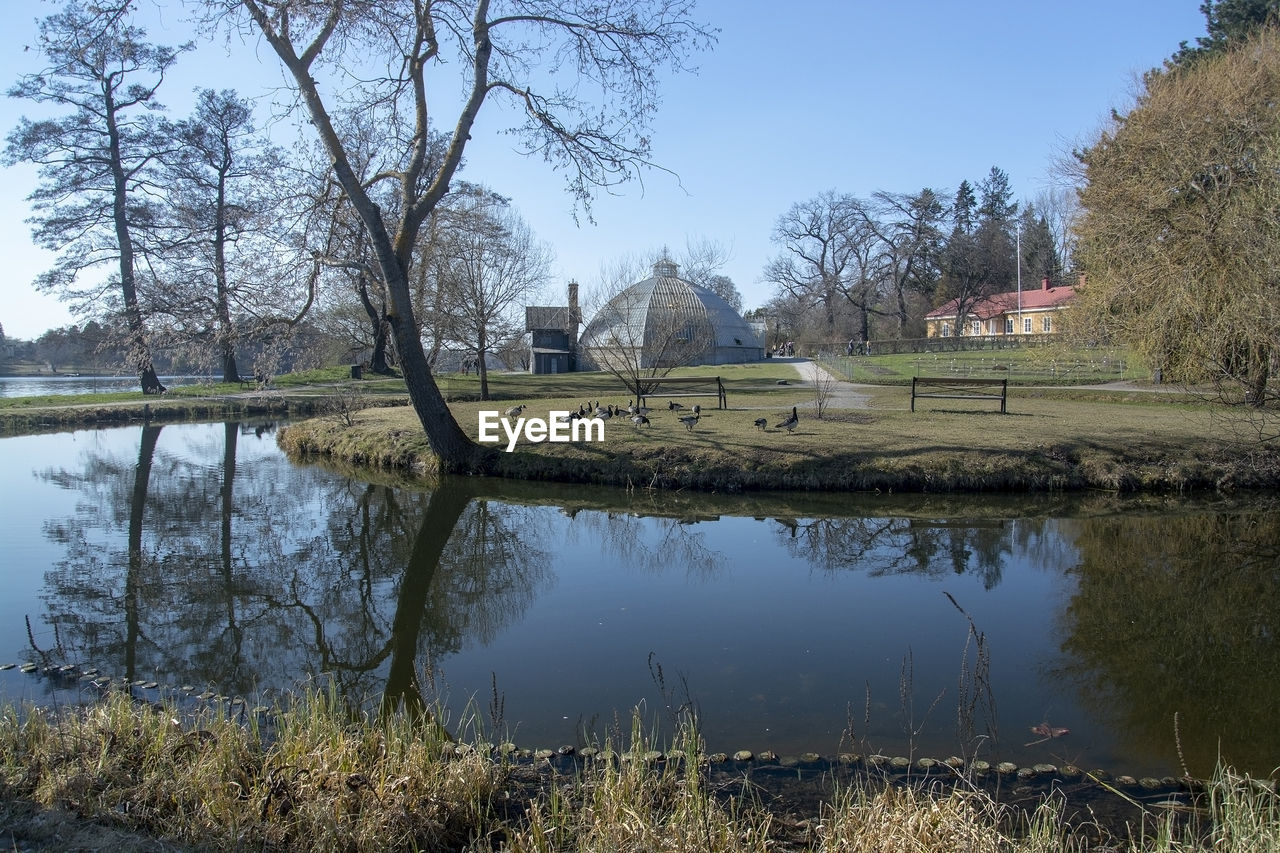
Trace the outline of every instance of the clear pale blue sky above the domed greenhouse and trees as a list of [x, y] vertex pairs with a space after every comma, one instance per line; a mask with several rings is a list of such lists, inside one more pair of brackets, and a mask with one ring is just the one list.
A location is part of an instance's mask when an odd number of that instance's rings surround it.
[[[148, 6], [147, 3], [151, 3]], [[512, 199], [553, 255], [547, 304], [563, 304], [576, 279], [590, 295], [605, 264], [689, 241], [727, 250], [722, 273], [745, 307], [773, 296], [762, 280], [780, 251], [778, 216], [827, 190], [950, 196], [998, 167], [1018, 199], [1059, 186], [1055, 164], [1088, 143], [1112, 109], [1124, 111], [1147, 69], [1179, 42], [1204, 35], [1201, 0], [700, 0], [717, 28], [696, 73], [668, 76], [653, 124], [650, 170], [598, 196], [591, 219], [573, 216], [563, 175], [517, 151], [508, 118], [484, 108], [460, 177]], [[60, 3], [4, 0], [0, 83], [40, 70], [36, 20]], [[180, 6], [143, 0], [148, 37], [191, 38]], [[31, 46], [31, 50], [27, 47]], [[248, 44], [228, 56], [220, 42], [186, 54], [161, 100], [175, 118], [197, 86], [261, 95], [280, 82], [270, 49]], [[0, 99], [8, 134], [38, 105]], [[31, 243], [29, 165], [0, 167], [0, 324], [32, 339], [77, 321], [32, 287], [51, 255]]]

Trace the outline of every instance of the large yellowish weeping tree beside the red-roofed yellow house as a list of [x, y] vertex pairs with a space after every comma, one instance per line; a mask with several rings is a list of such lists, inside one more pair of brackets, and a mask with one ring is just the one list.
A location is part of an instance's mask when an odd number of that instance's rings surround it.
[[1280, 343], [1280, 32], [1147, 74], [1078, 152], [1071, 327], [1262, 409]]

